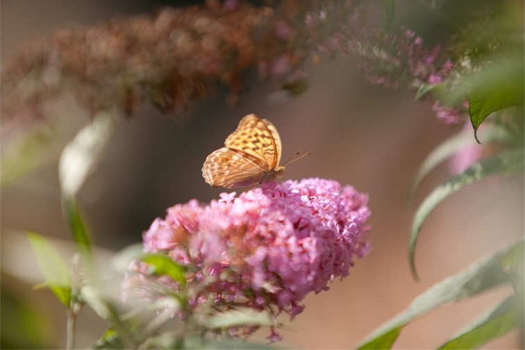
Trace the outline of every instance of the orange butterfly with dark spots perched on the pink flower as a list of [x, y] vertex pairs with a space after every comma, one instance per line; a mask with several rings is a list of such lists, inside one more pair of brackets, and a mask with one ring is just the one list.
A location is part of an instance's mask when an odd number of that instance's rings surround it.
[[285, 165], [279, 165], [281, 138], [267, 119], [253, 114], [242, 118], [224, 145], [211, 153], [202, 167], [202, 176], [211, 187], [240, 188], [267, 183], [285, 172]]

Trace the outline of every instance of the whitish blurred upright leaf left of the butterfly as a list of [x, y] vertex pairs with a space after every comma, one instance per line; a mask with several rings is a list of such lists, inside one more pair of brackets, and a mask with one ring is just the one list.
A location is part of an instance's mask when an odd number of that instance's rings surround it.
[[67, 144], [58, 165], [60, 187], [64, 197], [73, 198], [85, 179], [94, 171], [113, 131], [113, 117], [99, 113]]

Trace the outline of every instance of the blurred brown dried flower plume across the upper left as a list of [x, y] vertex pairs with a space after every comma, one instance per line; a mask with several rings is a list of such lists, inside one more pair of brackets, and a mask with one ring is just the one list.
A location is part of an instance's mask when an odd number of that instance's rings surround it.
[[181, 113], [221, 84], [235, 100], [248, 69], [285, 80], [306, 58], [335, 51], [352, 3], [215, 0], [60, 28], [0, 66], [0, 120], [38, 117], [42, 102], [64, 93], [92, 113], [117, 106], [128, 115], [145, 99]]

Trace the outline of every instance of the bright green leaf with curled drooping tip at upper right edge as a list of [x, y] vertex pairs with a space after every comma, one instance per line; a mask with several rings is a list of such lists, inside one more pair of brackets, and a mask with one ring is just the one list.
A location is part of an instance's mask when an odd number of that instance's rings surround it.
[[523, 58], [502, 60], [480, 73], [469, 101], [469, 115], [474, 136], [483, 120], [497, 110], [525, 105], [525, 69]]

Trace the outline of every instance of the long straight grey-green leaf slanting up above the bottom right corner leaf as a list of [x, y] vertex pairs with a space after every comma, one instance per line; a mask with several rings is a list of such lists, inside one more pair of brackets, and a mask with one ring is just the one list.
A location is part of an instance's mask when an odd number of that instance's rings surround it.
[[503, 283], [509, 283], [510, 278], [502, 272], [502, 269], [511, 256], [519, 256], [523, 262], [524, 256], [518, 252], [522, 252], [524, 248], [525, 238], [522, 238], [494, 256], [481, 260], [480, 263], [466, 271], [433, 285], [414, 299], [403, 313], [390, 319], [372, 335], [369, 335], [367, 340], [358, 346], [358, 349], [390, 349], [402, 328], [418, 317], [453, 301], [472, 297]]

